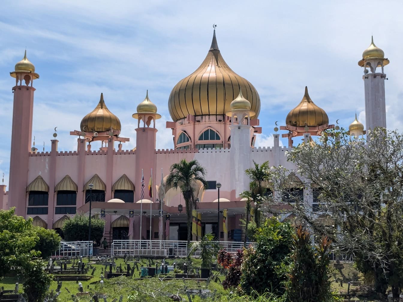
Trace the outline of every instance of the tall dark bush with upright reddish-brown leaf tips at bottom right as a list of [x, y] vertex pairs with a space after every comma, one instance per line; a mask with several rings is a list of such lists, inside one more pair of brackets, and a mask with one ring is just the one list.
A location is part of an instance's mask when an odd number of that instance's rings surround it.
[[310, 232], [301, 226], [293, 235], [293, 254], [285, 300], [290, 302], [331, 302], [329, 251], [330, 243], [323, 237], [312, 246]]

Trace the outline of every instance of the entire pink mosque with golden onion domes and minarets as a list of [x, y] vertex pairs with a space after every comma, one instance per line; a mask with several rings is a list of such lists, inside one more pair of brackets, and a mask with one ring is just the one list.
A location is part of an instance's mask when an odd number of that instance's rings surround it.
[[[384, 52], [375, 46], [373, 40], [358, 62], [364, 68], [362, 78], [367, 129], [386, 127], [384, 66], [388, 63]], [[279, 129], [275, 128], [273, 147], [254, 147], [256, 135], [262, 133], [258, 119], [258, 91], [226, 64], [218, 48], [215, 31], [202, 64], [179, 81], [168, 97], [172, 121], [166, 122], [166, 128], [172, 129], [174, 145], [169, 150], [156, 150], [158, 129], [155, 120], [161, 116], [147, 92], [133, 113], [133, 118], [137, 119], [135, 149], [123, 149], [123, 143], [129, 138], [120, 137], [120, 120], [108, 109], [101, 93], [95, 109], [83, 117], [80, 125], [71, 129], [70, 134], [77, 136], [77, 151], [59, 152], [57, 135], [54, 134], [51, 151], [38, 152], [31, 147], [31, 135], [33, 81], [39, 79], [39, 74], [27, 59], [26, 52], [10, 76], [15, 78], [15, 86], [12, 87], [10, 181], [8, 191], [5, 185], [0, 186], [0, 207], [16, 207], [17, 215], [33, 217], [35, 225], [58, 232], [61, 232], [64, 221], [75, 213], [89, 214], [87, 201], [89, 185], [92, 184], [91, 214], [106, 220], [104, 235], [108, 240], [142, 237], [186, 240], [186, 210], [184, 205], [182, 209], [178, 207], [184, 204], [183, 197], [179, 190], [166, 187], [160, 201], [158, 189], [172, 163], [181, 159], [197, 159], [206, 168], [209, 183], [206, 190], [195, 184], [196, 212], [202, 232], [217, 234], [216, 184], [221, 183], [220, 240], [241, 241], [240, 219], [245, 216], [245, 201], [239, 193], [249, 189], [249, 179], [244, 172], [251, 167], [252, 160], [257, 163], [269, 161], [270, 165], [283, 165], [295, 170], [284, 156], [285, 151], [293, 148], [293, 138], [300, 136], [307, 143], [312, 141], [311, 136], [334, 128], [333, 124], [329, 124], [326, 112], [312, 101], [305, 87], [304, 92], [301, 89], [302, 100], [296, 102], [296, 107], [287, 115], [285, 126], [280, 126], [280, 130], [285, 131], [282, 136], [288, 138], [288, 146], [279, 146]], [[365, 134], [364, 126], [357, 117], [349, 126], [349, 131], [353, 137]], [[141, 199], [142, 172], [145, 199]], [[152, 198], [147, 190], [151, 176]], [[293, 177], [297, 184], [297, 174]], [[297, 194], [305, 193], [301, 194], [301, 198], [305, 198], [312, 207], [316, 206], [312, 188], [304, 188], [306, 192], [299, 188], [295, 190], [301, 191]], [[164, 220], [162, 232], [159, 232], [160, 215]], [[129, 216], [133, 218], [129, 219]], [[129, 223], [133, 223], [131, 235]]]

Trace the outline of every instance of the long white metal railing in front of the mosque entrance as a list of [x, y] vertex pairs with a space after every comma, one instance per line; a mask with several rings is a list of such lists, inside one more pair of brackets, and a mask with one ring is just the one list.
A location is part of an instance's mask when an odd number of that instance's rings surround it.
[[[193, 242], [193, 241], [191, 241]], [[256, 246], [254, 242], [247, 242], [247, 246]], [[243, 242], [220, 241], [221, 248], [235, 253], [243, 248]], [[113, 240], [111, 254], [133, 256], [187, 256], [187, 241], [170, 240]], [[198, 256], [196, 253], [195, 256]]]

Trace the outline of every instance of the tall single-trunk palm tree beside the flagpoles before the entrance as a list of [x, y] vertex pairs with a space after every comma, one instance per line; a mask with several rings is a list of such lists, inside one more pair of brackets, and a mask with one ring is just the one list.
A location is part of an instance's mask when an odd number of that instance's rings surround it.
[[170, 173], [166, 178], [166, 185], [172, 188], [181, 189], [183, 199], [185, 199], [186, 215], [187, 215], [187, 246], [190, 245], [192, 236], [192, 209], [195, 206], [195, 189], [194, 185], [197, 181], [202, 182], [205, 189], [208, 188], [205, 179], [206, 169], [199, 164], [196, 159], [186, 161], [182, 159], [179, 163], [171, 165]]

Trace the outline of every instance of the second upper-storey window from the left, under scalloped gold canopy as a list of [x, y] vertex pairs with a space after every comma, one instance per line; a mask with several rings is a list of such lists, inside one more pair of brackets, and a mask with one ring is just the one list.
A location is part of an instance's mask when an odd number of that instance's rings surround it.
[[77, 184], [66, 175], [54, 187], [56, 192], [55, 214], [75, 214], [77, 205]]

